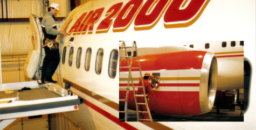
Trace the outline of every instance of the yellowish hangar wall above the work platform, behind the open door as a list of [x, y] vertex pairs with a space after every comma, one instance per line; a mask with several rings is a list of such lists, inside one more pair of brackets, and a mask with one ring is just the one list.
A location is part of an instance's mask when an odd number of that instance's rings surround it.
[[[7, 15], [10, 18], [29, 18], [31, 13], [39, 18], [44, 16], [41, 0], [3, 0], [0, 2], [0, 44], [2, 59], [2, 83], [24, 82], [23, 66], [26, 55], [33, 49], [29, 21], [3, 22]], [[58, 17], [66, 17], [70, 12], [70, 0], [50, 0], [50, 4], [58, 3]], [[1, 22], [2, 21], [2, 22]], [[57, 26], [61, 21], [56, 21]]]

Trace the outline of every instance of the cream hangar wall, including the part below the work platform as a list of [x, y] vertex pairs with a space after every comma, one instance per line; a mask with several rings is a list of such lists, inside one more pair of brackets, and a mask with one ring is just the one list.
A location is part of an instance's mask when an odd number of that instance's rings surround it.
[[[3, 0], [3, 14], [6, 18], [5, 4], [7, 1], [8, 18], [29, 18], [33, 13], [39, 18], [43, 17], [43, 1], [41, 0]], [[86, 0], [85, 0], [86, 1]], [[60, 10], [56, 17], [66, 17], [70, 12], [70, 0], [50, 0], [58, 3]], [[1, 3], [0, 3], [1, 4]], [[2, 19], [2, 5], [0, 5], [0, 19]], [[57, 26], [61, 21], [56, 21]], [[23, 66], [26, 56], [32, 50], [31, 29], [29, 22], [1, 22], [0, 21], [0, 45], [2, 59], [3, 83], [24, 82]], [[18, 118], [6, 129], [49, 129], [47, 118], [28, 119]], [[79, 129], [72, 124], [62, 113], [51, 114], [51, 129]], [[23, 119], [23, 121], [22, 121]], [[46, 120], [46, 121], [45, 121]], [[55, 123], [57, 122], [57, 123]]]

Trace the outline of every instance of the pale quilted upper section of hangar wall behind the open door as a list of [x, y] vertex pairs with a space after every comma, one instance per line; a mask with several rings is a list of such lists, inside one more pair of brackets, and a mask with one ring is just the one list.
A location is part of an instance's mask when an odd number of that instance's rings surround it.
[[[41, 0], [4, 0], [3, 17], [2, 5], [0, 18], [6, 18], [6, 1], [8, 18], [29, 18], [31, 13], [39, 18], [44, 16], [43, 1]], [[60, 12], [56, 17], [66, 17], [70, 12], [70, 0], [50, 0], [60, 5]], [[32, 49], [31, 30], [29, 22], [1, 22], [0, 23], [1, 55], [28, 54]]]

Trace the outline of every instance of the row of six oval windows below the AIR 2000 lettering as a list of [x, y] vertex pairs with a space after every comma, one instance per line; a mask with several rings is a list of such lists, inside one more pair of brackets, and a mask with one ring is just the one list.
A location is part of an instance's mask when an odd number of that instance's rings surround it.
[[[62, 56], [62, 63], [65, 64], [65, 57], [66, 57], [66, 49], [65, 46], [63, 48], [63, 56]], [[97, 55], [96, 55], [96, 62], [95, 62], [95, 72], [96, 74], [101, 74], [102, 70], [102, 61], [103, 61], [103, 49], [99, 48]], [[73, 63], [73, 53], [74, 53], [74, 47], [70, 48], [70, 54], [68, 57], [68, 65], [71, 67]], [[81, 54], [82, 54], [82, 48], [78, 48], [77, 52], [77, 61], [76, 66], [79, 69], [81, 64]], [[90, 64], [91, 64], [91, 55], [92, 55], [92, 48], [87, 48], [86, 55], [85, 55], [85, 70], [89, 71]], [[109, 64], [108, 64], [108, 75], [111, 78], [115, 78], [116, 76], [116, 68], [117, 68], [117, 59], [118, 59], [118, 50], [113, 49], [110, 53], [109, 57]]]

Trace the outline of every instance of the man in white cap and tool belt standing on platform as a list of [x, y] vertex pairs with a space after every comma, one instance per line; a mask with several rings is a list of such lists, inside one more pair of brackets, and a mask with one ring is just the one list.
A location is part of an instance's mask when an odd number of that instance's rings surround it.
[[[55, 41], [55, 39], [57, 38], [57, 35], [67, 35], [66, 32], [57, 30], [57, 25], [55, 23], [54, 16], [57, 15], [58, 11], [60, 11], [59, 5], [56, 3], [51, 4], [48, 9], [48, 12], [45, 14], [41, 22], [42, 31], [44, 33], [43, 43], [44, 45], [49, 45], [44, 47], [45, 57], [41, 72], [42, 84], [45, 84], [45, 81], [57, 83], [57, 81], [52, 80], [52, 76], [60, 62], [59, 44]], [[51, 44], [49, 44], [49, 42], [51, 42]]]

